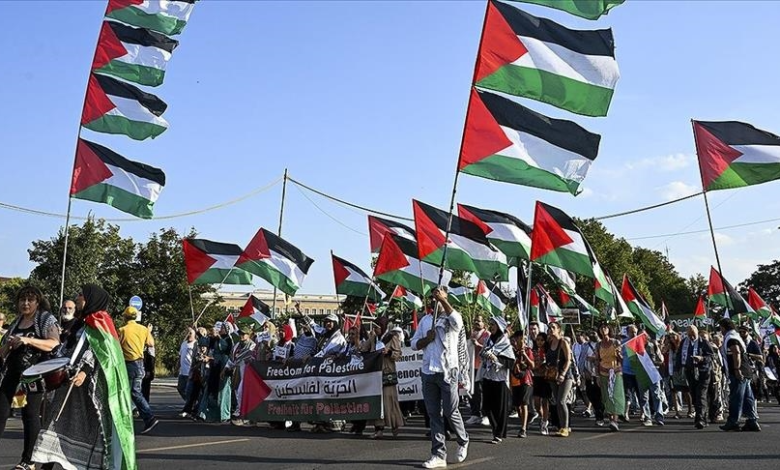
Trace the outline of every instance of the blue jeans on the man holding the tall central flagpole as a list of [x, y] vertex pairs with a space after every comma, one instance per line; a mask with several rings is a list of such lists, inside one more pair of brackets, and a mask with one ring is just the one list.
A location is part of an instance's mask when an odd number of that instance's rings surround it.
[[[428, 417], [431, 420], [431, 455], [447, 458], [447, 444], [444, 437], [444, 417], [450, 422], [455, 432], [455, 440], [460, 445], [469, 442], [469, 435], [463, 426], [463, 418], [458, 410], [458, 382], [451, 379], [444, 381], [444, 374], [421, 374], [423, 385], [423, 400]], [[444, 415], [442, 415], [444, 411]]]

